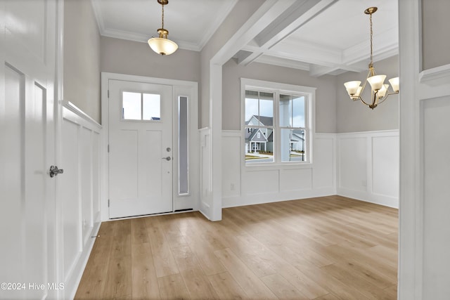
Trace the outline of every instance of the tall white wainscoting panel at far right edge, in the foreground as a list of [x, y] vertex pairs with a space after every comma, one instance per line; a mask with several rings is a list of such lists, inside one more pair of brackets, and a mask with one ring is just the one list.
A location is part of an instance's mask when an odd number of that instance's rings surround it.
[[424, 99], [420, 110], [424, 166], [423, 294], [424, 299], [447, 299], [450, 295], [450, 96]]

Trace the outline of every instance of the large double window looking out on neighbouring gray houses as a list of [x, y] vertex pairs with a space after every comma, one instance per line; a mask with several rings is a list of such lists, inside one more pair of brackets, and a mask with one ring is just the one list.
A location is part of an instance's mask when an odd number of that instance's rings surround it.
[[245, 164], [311, 162], [315, 89], [252, 79], [242, 83]]

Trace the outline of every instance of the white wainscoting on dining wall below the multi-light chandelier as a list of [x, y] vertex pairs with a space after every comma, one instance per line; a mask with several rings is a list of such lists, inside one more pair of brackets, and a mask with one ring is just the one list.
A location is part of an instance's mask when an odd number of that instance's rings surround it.
[[338, 133], [338, 195], [399, 207], [399, 131]]

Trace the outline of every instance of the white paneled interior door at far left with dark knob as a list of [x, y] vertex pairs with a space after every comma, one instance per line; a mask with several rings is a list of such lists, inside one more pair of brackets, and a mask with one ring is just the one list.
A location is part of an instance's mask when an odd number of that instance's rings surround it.
[[0, 14], [0, 299], [55, 298], [56, 1]]

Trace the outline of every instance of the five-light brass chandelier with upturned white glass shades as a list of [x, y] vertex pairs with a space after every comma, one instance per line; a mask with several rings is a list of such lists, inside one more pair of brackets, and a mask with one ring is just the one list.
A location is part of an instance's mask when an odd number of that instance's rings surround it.
[[[377, 75], [375, 73], [375, 67], [373, 67], [373, 45], [372, 45], [372, 14], [377, 11], [376, 7], [369, 7], [364, 11], [366, 15], [370, 15], [370, 23], [371, 23], [371, 63], [368, 64], [368, 74], [366, 77], [366, 81], [364, 81], [363, 86], [360, 86], [361, 81], [348, 81], [345, 82], [344, 86], [347, 89], [347, 93], [352, 100], [361, 100], [362, 103], [367, 105], [372, 110], [377, 107], [378, 104], [383, 103], [387, 96], [399, 93], [399, 77], [395, 77], [389, 79], [389, 82], [392, 86], [392, 93], [388, 90], [389, 84], [385, 84], [386, 75]], [[361, 97], [364, 88], [366, 87], [366, 83], [371, 85], [371, 102], [367, 103]]]

